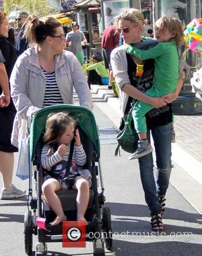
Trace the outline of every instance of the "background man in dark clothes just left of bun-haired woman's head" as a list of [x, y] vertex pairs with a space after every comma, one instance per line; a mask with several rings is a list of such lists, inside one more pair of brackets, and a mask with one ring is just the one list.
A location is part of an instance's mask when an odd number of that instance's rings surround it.
[[28, 20], [28, 13], [26, 11], [22, 11], [18, 17], [15, 19], [17, 22], [17, 29], [19, 30], [18, 36], [16, 38], [16, 50], [18, 56], [24, 53], [28, 48], [28, 41], [24, 38], [24, 29], [26, 22]]

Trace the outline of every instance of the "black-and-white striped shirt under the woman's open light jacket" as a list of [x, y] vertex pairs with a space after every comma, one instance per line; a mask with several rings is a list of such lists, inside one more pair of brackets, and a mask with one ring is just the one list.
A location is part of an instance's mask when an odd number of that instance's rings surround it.
[[59, 92], [59, 88], [57, 86], [55, 71], [52, 73], [47, 73], [44, 69], [42, 69], [42, 71], [46, 79], [46, 89], [42, 108], [44, 108], [44, 106], [51, 106], [63, 103], [63, 98], [61, 97], [61, 93]]

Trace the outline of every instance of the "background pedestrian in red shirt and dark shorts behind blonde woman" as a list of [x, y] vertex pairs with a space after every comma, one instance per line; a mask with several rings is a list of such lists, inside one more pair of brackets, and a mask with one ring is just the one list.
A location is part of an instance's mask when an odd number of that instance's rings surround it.
[[119, 46], [119, 33], [116, 32], [114, 25], [108, 26], [102, 33], [102, 56], [109, 75], [108, 89], [112, 89], [112, 81], [114, 80], [112, 67], [110, 65], [110, 55], [112, 50], [117, 46]]

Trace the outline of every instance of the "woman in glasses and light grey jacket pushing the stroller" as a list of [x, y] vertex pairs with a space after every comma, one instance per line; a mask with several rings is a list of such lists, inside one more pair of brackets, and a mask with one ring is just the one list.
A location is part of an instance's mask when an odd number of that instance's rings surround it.
[[24, 36], [30, 48], [18, 57], [10, 79], [11, 96], [18, 111], [11, 138], [15, 146], [26, 137], [27, 121], [38, 109], [72, 104], [73, 88], [79, 104], [92, 109], [86, 75], [75, 55], [64, 51], [66, 40], [59, 21], [29, 16]]

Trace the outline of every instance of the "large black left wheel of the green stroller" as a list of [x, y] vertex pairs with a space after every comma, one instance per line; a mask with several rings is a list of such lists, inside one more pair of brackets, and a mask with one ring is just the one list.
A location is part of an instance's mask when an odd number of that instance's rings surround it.
[[32, 214], [28, 210], [24, 214], [24, 247], [27, 255], [32, 254]]

